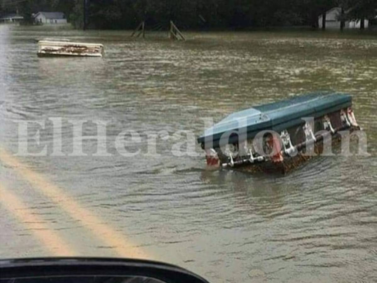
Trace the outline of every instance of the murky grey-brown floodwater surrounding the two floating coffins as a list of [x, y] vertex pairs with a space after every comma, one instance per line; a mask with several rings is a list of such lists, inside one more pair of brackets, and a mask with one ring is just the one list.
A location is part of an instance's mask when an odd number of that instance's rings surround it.
[[[39, 147], [30, 141], [31, 152], [49, 145], [47, 156], [13, 156], [18, 165], [0, 156], [0, 185], [44, 227], [34, 231], [0, 201], [0, 257], [53, 255], [35, 237], [43, 231], [58, 234], [75, 255], [120, 256], [104, 231], [111, 227], [149, 258], [210, 282], [377, 281], [377, 39], [309, 31], [186, 35], [186, 42], [171, 42], [149, 34], [135, 40], [129, 32], [0, 26], [2, 154], [17, 153], [22, 121], [46, 121], [40, 132], [29, 125], [29, 135], [41, 136]], [[103, 43], [106, 56], [37, 58], [35, 40], [45, 37]], [[172, 154], [174, 133], [201, 134], [201, 118], [216, 122], [317, 90], [353, 95], [371, 156], [319, 157], [288, 176], [267, 176], [206, 171], [199, 145], [198, 156]], [[54, 117], [63, 119], [67, 154], [68, 120], [108, 122], [110, 156], [93, 155], [95, 140], [83, 142], [87, 156], [51, 156]], [[114, 149], [127, 130], [141, 135], [127, 147], [140, 150], [134, 157]], [[148, 155], [146, 136], [161, 130], [170, 138], [157, 138], [159, 156]], [[95, 127], [84, 134], [95, 135]], [[43, 193], [44, 184], [97, 218], [70, 213], [64, 198]], [[98, 219], [106, 225], [93, 226], [102, 238], [90, 228]]]

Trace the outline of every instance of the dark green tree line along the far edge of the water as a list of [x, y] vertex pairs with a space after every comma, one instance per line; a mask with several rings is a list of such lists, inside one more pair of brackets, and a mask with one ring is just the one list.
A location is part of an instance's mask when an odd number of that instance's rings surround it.
[[[3, 12], [18, 11], [27, 21], [38, 11], [62, 11], [77, 28], [83, 26], [84, 0], [0, 0]], [[181, 28], [248, 28], [312, 25], [332, 7], [346, 16], [373, 18], [377, 0], [87, 0], [89, 28], [167, 27], [170, 20]]]

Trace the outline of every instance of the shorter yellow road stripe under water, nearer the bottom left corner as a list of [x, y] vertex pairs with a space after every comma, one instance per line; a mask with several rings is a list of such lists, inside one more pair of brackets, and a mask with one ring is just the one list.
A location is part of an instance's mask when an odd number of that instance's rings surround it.
[[31, 232], [48, 248], [55, 256], [72, 256], [75, 255], [73, 249], [64, 242], [55, 231], [49, 229], [43, 224], [43, 220], [33, 214], [33, 211], [27, 208], [23, 202], [0, 184], [0, 203], [9, 210], [18, 220], [30, 229]]

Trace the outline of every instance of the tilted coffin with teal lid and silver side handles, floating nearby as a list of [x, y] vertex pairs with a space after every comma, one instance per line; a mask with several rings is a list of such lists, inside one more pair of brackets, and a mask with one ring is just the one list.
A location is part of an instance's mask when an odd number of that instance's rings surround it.
[[359, 128], [351, 107], [348, 94], [300, 95], [233, 113], [205, 130], [198, 142], [208, 166], [287, 172], [307, 159], [301, 154], [307, 144], [320, 150], [323, 131], [335, 136]]

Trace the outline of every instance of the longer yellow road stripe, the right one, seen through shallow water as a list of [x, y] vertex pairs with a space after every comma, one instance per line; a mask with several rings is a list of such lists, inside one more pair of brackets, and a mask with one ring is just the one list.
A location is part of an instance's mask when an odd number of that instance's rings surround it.
[[17, 171], [35, 190], [40, 191], [54, 201], [70, 217], [83, 223], [92, 232], [93, 236], [97, 237], [98, 240], [101, 240], [107, 246], [111, 246], [120, 257], [153, 259], [150, 254], [146, 254], [141, 248], [128, 241], [123, 234], [116, 231], [104, 220], [100, 219], [100, 217], [93, 215], [91, 211], [81, 207], [74, 198], [64, 193], [61, 188], [52, 184], [41, 174], [32, 171], [2, 148], [0, 148], [0, 161]]

